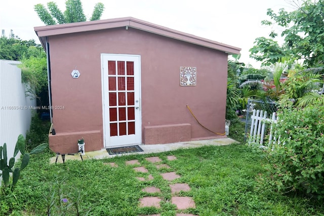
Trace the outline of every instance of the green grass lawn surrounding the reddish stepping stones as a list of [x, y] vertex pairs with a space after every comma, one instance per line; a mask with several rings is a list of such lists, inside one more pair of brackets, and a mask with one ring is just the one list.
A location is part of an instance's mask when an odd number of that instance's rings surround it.
[[[174, 155], [177, 160], [169, 161]], [[158, 156], [170, 168], [157, 170], [146, 157]], [[137, 159], [141, 165], [126, 165]], [[265, 170], [265, 158], [245, 145], [201, 147], [148, 155], [115, 157], [103, 160], [66, 161], [50, 164], [49, 156], [33, 155], [21, 172], [13, 193], [2, 196], [0, 215], [47, 215], [47, 205], [54, 204], [51, 215], [77, 215], [71, 203], [88, 215], [162, 216], [176, 213], [196, 215], [320, 215], [324, 207], [316, 200], [297, 195], [282, 195], [264, 190], [256, 181]], [[114, 162], [118, 167], [105, 163]], [[148, 173], [133, 168], [145, 166]], [[186, 183], [191, 190], [179, 196], [192, 197], [196, 208], [177, 210], [171, 200], [170, 182], [159, 173], [174, 171], [180, 178], [172, 183]], [[154, 179], [139, 181], [136, 177]], [[160, 193], [160, 208], [139, 207], [139, 199], [148, 196], [142, 189], [155, 186]], [[59, 202], [67, 198], [68, 202]], [[79, 213], [85, 215], [85, 213]]]

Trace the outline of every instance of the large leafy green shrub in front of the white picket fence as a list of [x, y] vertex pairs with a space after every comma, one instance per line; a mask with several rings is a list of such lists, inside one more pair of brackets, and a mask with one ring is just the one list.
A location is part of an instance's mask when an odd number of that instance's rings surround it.
[[269, 152], [270, 178], [278, 191], [300, 191], [324, 198], [324, 109], [321, 102], [282, 109], [274, 129], [280, 144]]

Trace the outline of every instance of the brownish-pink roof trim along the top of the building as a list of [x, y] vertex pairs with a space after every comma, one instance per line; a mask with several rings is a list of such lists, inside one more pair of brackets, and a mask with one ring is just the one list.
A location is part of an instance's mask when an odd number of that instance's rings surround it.
[[46, 48], [45, 42], [46, 42], [46, 37], [48, 36], [82, 32], [82, 31], [117, 28], [117, 27], [126, 27], [126, 28], [132, 27], [143, 31], [148, 31], [151, 33], [163, 35], [168, 38], [173, 38], [191, 44], [196, 44], [199, 46], [223, 51], [228, 54], [239, 54], [239, 51], [241, 50], [240, 48], [237, 47], [229, 46], [205, 38], [200, 38], [193, 34], [184, 33], [181, 31], [156, 25], [133, 17], [96, 20], [96, 21], [88, 21], [88, 22], [75, 22], [75, 23], [67, 23], [67, 24], [60, 24], [60, 25], [46, 25], [46, 26], [34, 27], [34, 30], [39, 40], [41, 40], [43, 47]]

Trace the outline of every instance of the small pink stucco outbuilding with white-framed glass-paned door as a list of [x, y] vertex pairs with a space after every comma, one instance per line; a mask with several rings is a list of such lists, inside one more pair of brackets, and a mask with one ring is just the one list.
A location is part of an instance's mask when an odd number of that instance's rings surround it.
[[52, 151], [75, 153], [82, 138], [87, 152], [223, 136], [227, 57], [239, 48], [132, 17], [34, 29]]

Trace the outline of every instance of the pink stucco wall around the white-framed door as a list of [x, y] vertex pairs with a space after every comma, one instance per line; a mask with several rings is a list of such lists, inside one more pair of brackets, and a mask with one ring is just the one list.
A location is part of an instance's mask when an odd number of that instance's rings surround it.
[[[101, 53], [141, 55], [142, 131], [145, 126], [190, 124], [191, 138], [224, 132], [227, 54], [134, 28], [62, 34], [49, 37], [55, 152], [75, 152], [68, 134], [89, 135], [86, 151], [103, 146]], [[181, 87], [179, 67], [197, 68], [197, 85]], [[78, 79], [71, 71], [80, 72]], [[55, 109], [64, 106], [64, 109]], [[61, 136], [61, 138], [58, 138]], [[85, 139], [86, 140], [86, 139]], [[142, 142], [144, 142], [142, 137]], [[77, 141], [77, 140], [76, 140]]]

